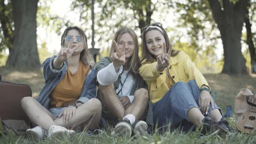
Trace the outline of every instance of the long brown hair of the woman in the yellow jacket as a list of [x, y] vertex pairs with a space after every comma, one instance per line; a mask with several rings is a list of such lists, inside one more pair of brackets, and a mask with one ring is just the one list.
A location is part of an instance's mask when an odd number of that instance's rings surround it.
[[[154, 24], [151, 24], [151, 25], [148, 25], [148, 26], [154, 26]], [[170, 47], [170, 41], [169, 41], [169, 37], [166, 33], [166, 31], [164, 30], [164, 28], [161, 26], [161, 23], [159, 23], [158, 25], [155, 25], [155, 26], [158, 26], [160, 29], [162, 29], [163, 32], [161, 32], [159, 29], [157, 29], [156, 27], [150, 27], [148, 28], [148, 26], [145, 26], [142, 31], [142, 60], [141, 62], [144, 60], [144, 59], [147, 59], [144, 63], [146, 62], [155, 62], [157, 59], [148, 51], [148, 48], [147, 48], [147, 45], [146, 45], [146, 34], [151, 31], [151, 30], [158, 30], [163, 36], [164, 36], [164, 40], [165, 40], [165, 44], [166, 44], [166, 51], [168, 52], [169, 50], [169, 47]], [[148, 28], [148, 29], [147, 29]], [[175, 49], [172, 49], [171, 51], [171, 56], [176, 56], [180, 51], [179, 50], [175, 50]], [[143, 64], [144, 64], [143, 63]]]

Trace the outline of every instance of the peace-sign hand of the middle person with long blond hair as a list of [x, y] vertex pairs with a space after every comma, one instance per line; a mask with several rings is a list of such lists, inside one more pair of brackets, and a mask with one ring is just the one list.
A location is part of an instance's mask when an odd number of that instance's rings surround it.
[[118, 48], [117, 43], [115, 42], [115, 40], [112, 42], [112, 47], [115, 48], [115, 52], [111, 55], [111, 61], [114, 64], [115, 67], [115, 71], [118, 72], [118, 69], [121, 67], [121, 65], [125, 64], [125, 46], [126, 43], [123, 43], [123, 47], [120, 50]]

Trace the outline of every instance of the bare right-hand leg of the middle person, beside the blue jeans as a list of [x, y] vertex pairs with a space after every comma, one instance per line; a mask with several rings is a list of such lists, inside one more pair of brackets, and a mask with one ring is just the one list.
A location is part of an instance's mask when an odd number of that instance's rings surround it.
[[145, 88], [140, 88], [134, 93], [134, 99], [125, 110], [125, 115], [132, 114], [136, 119], [141, 119], [146, 115], [148, 108], [148, 91]]

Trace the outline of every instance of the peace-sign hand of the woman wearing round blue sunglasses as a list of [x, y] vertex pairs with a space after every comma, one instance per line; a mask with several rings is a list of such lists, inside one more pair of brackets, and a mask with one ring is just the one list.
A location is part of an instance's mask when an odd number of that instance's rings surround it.
[[74, 41], [75, 37], [72, 37], [71, 41], [69, 42], [69, 46], [68, 48], [64, 48], [62, 47], [60, 49], [60, 52], [57, 56], [57, 60], [58, 62], [62, 63], [62, 62], [65, 62], [67, 59], [70, 58], [70, 56], [72, 56], [72, 54], [75, 52], [76, 49], [80, 48], [81, 46], [83, 46], [82, 43], [78, 43], [73, 49], [72, 49], [72, 44], [73, 44], [73, 41]]

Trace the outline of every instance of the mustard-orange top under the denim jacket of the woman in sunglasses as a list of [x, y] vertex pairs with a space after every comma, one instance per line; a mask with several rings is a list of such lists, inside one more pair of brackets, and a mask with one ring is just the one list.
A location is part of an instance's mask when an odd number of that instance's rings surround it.
[[89, 70], [90, 66], [84, 65], [81, 61], [74, 74], [67, 67], [66, 75], [50, 94], [52, 98], [50, 105], [56, 105], [56, 108], [60, 108], [63, 104], [75, 102], [80, 97], [85, 76], [88, 75]]

